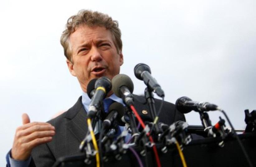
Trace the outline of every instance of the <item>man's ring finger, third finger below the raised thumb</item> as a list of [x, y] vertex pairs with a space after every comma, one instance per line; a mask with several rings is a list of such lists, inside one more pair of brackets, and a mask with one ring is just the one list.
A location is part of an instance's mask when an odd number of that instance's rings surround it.
[[55, 131], [41, 131], [41, 132], [33, 132], [30, 135], [24, 136], [20, 139], [22, 143], [28, 143], [33, 141], [37, 138], [44, 138], [44, 137], [52, 137], [55, 135]]

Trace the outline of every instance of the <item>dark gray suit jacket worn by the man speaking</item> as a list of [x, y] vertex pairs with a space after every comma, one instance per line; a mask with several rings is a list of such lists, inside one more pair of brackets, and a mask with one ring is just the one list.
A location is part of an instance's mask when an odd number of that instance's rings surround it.
[[[87, 132], [87, 115], [81, 99], [82, 97], [79, 97], [76, 104], [68, 111], [48, 121], [55, 127], [56, 134], [51, 142], [33, 149], [31, 167], [50, 167], [59, 157], [80, 153], [78, 147]], [[135, 109], [141, 118], [150, 119], [149, 114], [142, 114], [142, 110], [149, 111], [145, 98], [134, 95], [134, 101]], [[160, 100], [155, 100], [155, 106], [158, 111]], [[174, 104], [164, 102], [159, 122], [171, 124], [178, 120], [185, 121], [184, 115], [176, 111]]]

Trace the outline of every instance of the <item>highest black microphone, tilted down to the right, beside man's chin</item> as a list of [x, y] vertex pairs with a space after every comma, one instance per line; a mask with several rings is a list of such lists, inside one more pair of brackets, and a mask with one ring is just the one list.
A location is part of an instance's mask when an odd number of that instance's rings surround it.
[[156, 79], [152, 77], [150, 67], [146, 64], [139, 63], [134, 67], [135, 77], [144, 83], [159, 96], [164, 97], [164, 91], [157, 83]]

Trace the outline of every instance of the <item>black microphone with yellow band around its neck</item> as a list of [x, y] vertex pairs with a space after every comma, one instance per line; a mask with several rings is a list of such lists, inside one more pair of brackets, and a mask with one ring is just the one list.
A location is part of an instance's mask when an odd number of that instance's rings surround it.
[[95, 93], [92, 97], [92, 101], [89, 104], [88, 117], [93, 118], [99, 110], [102, 100], [106, 97], [108, 92], [111, 90], [111, 81], [107, 77], [100, 77], [95, 82]]

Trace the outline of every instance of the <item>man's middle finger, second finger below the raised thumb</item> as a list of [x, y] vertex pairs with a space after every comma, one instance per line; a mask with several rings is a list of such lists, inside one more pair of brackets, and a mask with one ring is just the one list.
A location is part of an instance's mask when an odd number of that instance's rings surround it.
[[44, 132], [44, 131], [54, 131], [54, 130], [55, 130], [55, 128], [52, 125], [34, 125], [27, 129], [23, 129], [23, 130], [16, 132], [16, 137], [19, 138], [22, 136], [27, 136], [33, 132], [40, 132], [40, 131]]

